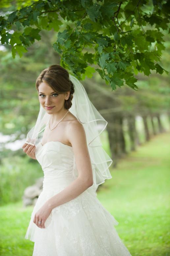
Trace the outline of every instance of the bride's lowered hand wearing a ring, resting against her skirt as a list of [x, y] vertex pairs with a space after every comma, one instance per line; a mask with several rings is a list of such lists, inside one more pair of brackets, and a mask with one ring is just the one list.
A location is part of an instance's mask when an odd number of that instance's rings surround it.
[[[48, 218], [48, 216], [51, 213], [51, 208], [47, 206], [47, 204], [44, 204], [35, 214], [33, 222], [37, 225], [39, 228], [45, 228], [45, 221]], [[38, 223], [41, 221], [42, 223]]]

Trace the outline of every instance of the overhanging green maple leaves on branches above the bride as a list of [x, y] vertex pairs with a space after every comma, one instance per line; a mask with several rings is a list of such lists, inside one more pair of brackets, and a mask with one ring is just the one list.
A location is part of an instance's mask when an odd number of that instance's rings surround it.
[[40, 31], [54, 29], [61, 65], [78, 79], [97, 71], [113, 90], [124, 82], [137, 90], [134, 74], [168, 74], [159, 63], [168, 23], [164, 0], [39, 0], [1, 16], [0, 35], [15, 58], [41, 39]]

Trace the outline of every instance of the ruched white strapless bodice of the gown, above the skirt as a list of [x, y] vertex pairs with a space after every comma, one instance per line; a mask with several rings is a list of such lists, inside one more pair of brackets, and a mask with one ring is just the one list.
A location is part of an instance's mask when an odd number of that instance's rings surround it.
[[59, 141], [40, 142], [35, 155], [44, 172], [43, 189], [69, 185], [75, 179], [73, 149]]

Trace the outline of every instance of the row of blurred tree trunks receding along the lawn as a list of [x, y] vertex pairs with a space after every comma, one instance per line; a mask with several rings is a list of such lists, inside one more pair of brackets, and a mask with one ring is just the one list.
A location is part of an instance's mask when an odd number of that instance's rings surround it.
[[[157, 133], [165, 132], [165, 129], [161, 123], [160, 115], [156, 114], [155, 116], [152, 114], [148, 115], [141, 115], [144, 124], [144, 133], [145, 133], [145, 141], [149, 141], [151, 139], [151, 135], [155, 136]], [[149, 126], [147, 118], [151, 118], [151, 125], [152, 125], [152, 134], [149, 132]], [[157, 118], [157, 128], [158, 132], [156, 131], [156, 124], [154, 122], [154, 118]], [[128, 136], [130, 139], [130, 151], [136, 150], [136, 146], [140, 145], [139, 139], [139, 132], [136, 129], [136, 117], [135, 115], [127, 114], [126, 117], [119, 112], [119, 113], [111, 113], [107, 118], [107, 132], [109, 138], [109, 145], [111, 150], [111, 158], [113, 160], [113, 167], [117, 166], [118, 159], [124, 157], [127, 154], [126, 151], [126, 141], [125, 141], [125, 134], [123, 130], [123, 119], [127, 119], [127, 126], [128, 126]]]

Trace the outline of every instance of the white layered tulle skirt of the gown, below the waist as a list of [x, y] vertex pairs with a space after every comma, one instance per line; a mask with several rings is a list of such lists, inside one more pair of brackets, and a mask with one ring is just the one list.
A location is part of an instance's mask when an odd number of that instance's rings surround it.
[[33, 222], [35, 213], [64, 187], [41, 192], [25, 235], [34, 243], [33, 256], [131, 255], [114, 226], [118, 221], [89, 189], [75, 199], [53, 208], [45, 228]]

